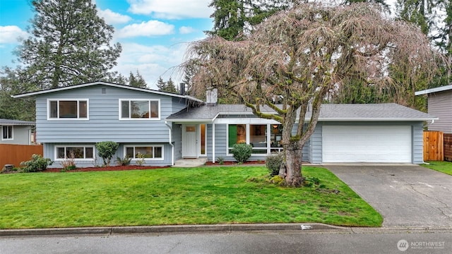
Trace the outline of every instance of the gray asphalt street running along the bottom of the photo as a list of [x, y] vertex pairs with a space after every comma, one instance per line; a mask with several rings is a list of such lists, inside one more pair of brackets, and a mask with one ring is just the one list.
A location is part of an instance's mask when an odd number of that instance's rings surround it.
[[253, 231], [232, 234], [0, 238], [16, 253], [452, 253], [452, 230]]

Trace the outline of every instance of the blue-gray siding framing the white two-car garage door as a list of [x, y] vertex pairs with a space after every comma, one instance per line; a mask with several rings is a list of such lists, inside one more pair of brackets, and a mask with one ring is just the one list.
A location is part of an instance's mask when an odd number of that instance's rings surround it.
[[423, 161], [423, 133], [422, 122], [319, 122], [311, 136], [309, 147], [309, 162], [320, 164], [322, 159], [322, 126], [391, 126], [403, 125], [412, 128], [412, 163], [421, 164]]

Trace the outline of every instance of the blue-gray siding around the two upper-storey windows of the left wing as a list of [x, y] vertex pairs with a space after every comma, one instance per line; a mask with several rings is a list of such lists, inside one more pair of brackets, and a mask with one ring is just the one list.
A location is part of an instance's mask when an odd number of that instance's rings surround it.
[[[105, 94], [102, 94], [105, 88]], [[47, 120], [47, 99], [89, 99], [89, 120]], [[160, 120], [119, 120], [119, 99], [160, 99]], [[93, 85], [76, 91], [52, 92], [36, 99], [38, 143], [168, 143], [165, 118], [184, 108], [165, 95]]]

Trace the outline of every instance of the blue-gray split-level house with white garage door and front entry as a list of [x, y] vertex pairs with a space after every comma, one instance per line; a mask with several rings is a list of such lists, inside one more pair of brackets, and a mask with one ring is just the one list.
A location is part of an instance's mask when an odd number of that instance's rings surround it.
[[[95, 143], [106, 140], [119, 143], [116, 156], [135, 162], [139, 152], [154, 166], [182, 158], [233, 160], [234, 143], [253, 145], [254, 160], [283, 149], [278, 122], [215, 99], [205, 104], [186, 95], [104, 82], [13, 97], [35, 97], [37, 142], [57, 167], [69, 154], [76, 155], [77, 167], [102, 164]], [[303, 159], [419, 164], [422, 124], [435, 119], [398, 104], [323, 104]]]

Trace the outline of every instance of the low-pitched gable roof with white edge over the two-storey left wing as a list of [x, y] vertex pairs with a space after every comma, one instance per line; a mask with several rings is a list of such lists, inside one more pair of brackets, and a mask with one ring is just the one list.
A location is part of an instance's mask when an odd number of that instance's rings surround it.
[[78, 84], [78, 85], [69, 85], [66, 87], [51, 88], [51, 89], [40, 90], [40, 91], [36, 91], [36, 92], [26, 92], [26, 93], [19, 94], [19, 95], [11, 95], [11, 97], [13, 97], [13, 98], [34, 97], [35, 95], [43, 95], [43, 94], [46, 94], [49, 92], [72, 90], [72, 89], [76, 89], [76, 88], [80, 88], [80, 87], [89, 87], [92, 85], [107, 85], [107, 86], [111, 86], [111, 87], [119, 87], [119, 88], [136, 90], [136, 91], [141, 91], [141, 92], [150, 92], [150, 93], [157, 94], [157, 95], [167, 95], [167, 96], [172, 96], [172, 97], [179, 97], [179, 98], [189, 99], [194, 102], [203, 102], [201, 99], [196, 99], [195, 97], [191, 97], [189, 95], [179, 95], [179, 94], [175, 94], [172, 92], [162, 92], [162, 91], [152, 90], [152, 89], [148, 89], [148, 88], [133, 87], [130, 85], [120, 85], [120, 84], [108, 83], [108, 82], [103, 82], [103, 81], [96, 81], [96, 82], [92, 82], [92, 83], [84, 83], [84, 84]]

